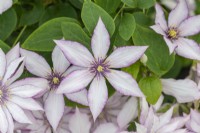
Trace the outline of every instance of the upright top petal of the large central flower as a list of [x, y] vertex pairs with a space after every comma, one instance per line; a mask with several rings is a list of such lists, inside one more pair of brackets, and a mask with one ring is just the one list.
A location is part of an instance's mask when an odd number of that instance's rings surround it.
[[101, 18], [94, 29], [91, 47], [96, 59], [105, 59], [110, 47], [110, 35]]

